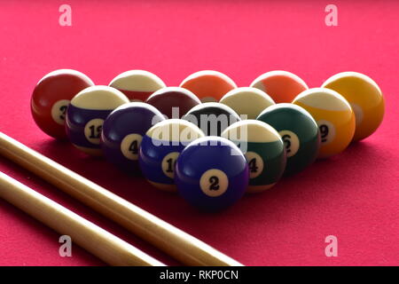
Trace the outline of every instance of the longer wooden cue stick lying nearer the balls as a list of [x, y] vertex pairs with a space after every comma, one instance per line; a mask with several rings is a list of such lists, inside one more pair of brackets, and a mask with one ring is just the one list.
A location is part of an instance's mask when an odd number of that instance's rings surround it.
[[242, 265], [173, 225], [0, 132], [0, 154], [160, 248], [182, 264]]

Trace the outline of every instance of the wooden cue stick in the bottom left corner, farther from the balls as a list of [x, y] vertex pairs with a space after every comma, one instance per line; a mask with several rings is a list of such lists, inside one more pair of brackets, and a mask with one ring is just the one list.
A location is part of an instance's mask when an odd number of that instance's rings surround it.
[[163, 266], [135, 248], [55, 201], [0, 171], [0, 197], [111, 265]]

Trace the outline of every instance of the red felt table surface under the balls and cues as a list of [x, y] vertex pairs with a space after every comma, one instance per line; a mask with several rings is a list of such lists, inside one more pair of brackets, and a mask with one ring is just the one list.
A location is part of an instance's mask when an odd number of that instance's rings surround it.
[[[338, 27], [325, 25], [325, 1], [68, 1], [72, 27], [59, 26], [59, 1], [0, 2], [0, 130], [206, 241], [247, 265], [399, 264], [399, 2], [333, 1]], [[386, 115], [372, 137], [284, 178], [269, 192], [204, 214], [143, 178], [47, 137], [29, 99], [35, 83], [74, 68], [107, 84], [129, 69], [178, 85], [202, 69], [247, 86], [274, 69], [320, 86], [341, 71], [370, 75]], [[120, 226], [12, 162], [0, 170], [87, 217], [167, 264], [176, 264]], [[338, 256], [325, 256], [325, 237]], [[59, 233], [0, 200], [0, 265], [103, 264], [82, 248], [59, 256]]]

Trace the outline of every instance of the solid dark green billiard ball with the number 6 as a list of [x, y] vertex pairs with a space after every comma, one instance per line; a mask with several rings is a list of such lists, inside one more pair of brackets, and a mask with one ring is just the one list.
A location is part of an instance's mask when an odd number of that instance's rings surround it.
[[286, 146], [286, 175], [308, 167], [317, 158], [320, 134], [317, 123], [302, 107], [281, 103], [266, 108], [257, 120], [270, 124]]

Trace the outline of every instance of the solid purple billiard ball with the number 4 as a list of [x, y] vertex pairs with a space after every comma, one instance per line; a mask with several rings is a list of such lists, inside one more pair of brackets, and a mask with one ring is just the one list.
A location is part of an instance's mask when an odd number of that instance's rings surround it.
[[138, 174], [138, 150], [145, 132], [164, 120], [155, 107], [131, 102], [113, 110], [106, 117], [100, 145], [107, 161], [129, 174]]

